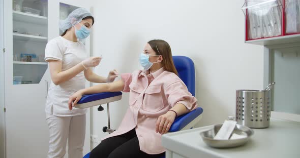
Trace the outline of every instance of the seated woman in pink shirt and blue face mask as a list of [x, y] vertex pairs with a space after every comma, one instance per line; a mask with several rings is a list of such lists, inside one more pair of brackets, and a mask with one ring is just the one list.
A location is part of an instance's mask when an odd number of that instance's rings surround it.
[[162, 134], [168, 132], [175, 117], [197, 108], [197, 99], [177, 76], [167, 42], [149, 41], [140, 63], [143, 71], [121, 74], [122, 80], [79, 90], [70, 97], [71, 110], [84, 94], [130, 92], [121, 125], [91, 151], [91, 158], [159, 157], [166, 150], [161, 145]]

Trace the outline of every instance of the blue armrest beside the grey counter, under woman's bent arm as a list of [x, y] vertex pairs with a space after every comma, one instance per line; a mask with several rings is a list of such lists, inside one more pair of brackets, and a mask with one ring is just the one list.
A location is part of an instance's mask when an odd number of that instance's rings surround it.
[[202, 112], [203, 112], [203, 109], [201, 107], [198, 107], [189, 113], [186, 113], [186, 114], [176, 117], [172, 126], [170, 127], [169, 132], [177, 132], [177, 131], [182, 130], [184, 127], [186, 127], [192, 121], [194, 121], [197, 117], [199, 117], [202, 114]]

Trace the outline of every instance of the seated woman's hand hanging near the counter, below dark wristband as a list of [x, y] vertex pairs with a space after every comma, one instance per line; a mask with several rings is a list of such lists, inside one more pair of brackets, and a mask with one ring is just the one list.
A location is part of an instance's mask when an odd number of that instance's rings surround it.
[[156, 122], [156, 133], [165, 134], [169, 131], [175, 120], [176, 114], [173, 111], [160, 115]]

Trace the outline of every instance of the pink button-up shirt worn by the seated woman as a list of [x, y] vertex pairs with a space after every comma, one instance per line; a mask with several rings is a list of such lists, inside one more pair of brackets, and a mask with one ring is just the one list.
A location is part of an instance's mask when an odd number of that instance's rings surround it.
[[129, 108], [119, 128], [102, 140], [135, 128], [140, 150], [148, 154], [164, 152], [162, 135], [155, 132], [158, 117], [177, 103], [193, 110], [198, 106], [197, 99], [175, 73], [164, 68], [150, 74], [148, 70], [123, 73], [121, 77], [125, 83], [123, 92], [130, 92]]

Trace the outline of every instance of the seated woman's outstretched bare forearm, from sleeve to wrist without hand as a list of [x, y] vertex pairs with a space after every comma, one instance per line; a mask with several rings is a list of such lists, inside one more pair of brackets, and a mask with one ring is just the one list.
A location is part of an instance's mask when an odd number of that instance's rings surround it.
[[124, 89], [124, 82], [123, 80], [119, 80], [109, 84], [96, 85], [80, 91], [81, 94], [84, 95], [84, 94], [95, 94], [95, 93], [102, 93], [102, 92], [117, 92], [117, 91], [122, 91], [123, 89]]

